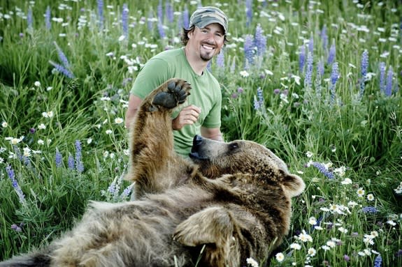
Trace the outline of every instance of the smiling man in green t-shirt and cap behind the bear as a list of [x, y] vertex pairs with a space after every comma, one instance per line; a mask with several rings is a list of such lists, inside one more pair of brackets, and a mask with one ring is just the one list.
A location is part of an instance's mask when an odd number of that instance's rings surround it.
[[153, 89], [173, 77], [192, 85], [187, 106], [173, 114], [175, 151], [187, 157], [194, 135], [222, 141], [220, 112], [222, 93], [217, 79], [206, 69], [213, 56], [227, 42], [228, 19], [219, 8], [197, 9], [190, 17], [189, 29], [183, 29], [185, 47], [153, 56], [134, 82], [129, 96], [126, 127], [134, 120], [141, 101]]

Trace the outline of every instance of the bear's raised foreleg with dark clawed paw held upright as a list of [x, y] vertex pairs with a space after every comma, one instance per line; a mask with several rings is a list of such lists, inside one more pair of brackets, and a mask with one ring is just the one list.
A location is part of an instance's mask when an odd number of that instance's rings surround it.
[[130, 169], [126, 177], [136, 182], [136, 198], [144, 193], [163, 192], [175, 184], [171, 179], [179, 173], [178, 168], [186, 168], [185, 161], [173, 150], [171, 114], [185, 102], [190, 89], [182, 79], [169, 79], [138, 108], [131, 126]]

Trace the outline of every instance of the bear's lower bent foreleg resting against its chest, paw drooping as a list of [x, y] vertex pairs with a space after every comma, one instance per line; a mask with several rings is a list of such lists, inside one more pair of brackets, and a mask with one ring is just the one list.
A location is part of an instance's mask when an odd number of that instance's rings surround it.
[[231, 212], [215, 206], [205, 208], [180, 223], [173, 238], [190, 247], [205, 244], [203, 266], [240, 266], [240, 247], [234, 237], [236, 231]]

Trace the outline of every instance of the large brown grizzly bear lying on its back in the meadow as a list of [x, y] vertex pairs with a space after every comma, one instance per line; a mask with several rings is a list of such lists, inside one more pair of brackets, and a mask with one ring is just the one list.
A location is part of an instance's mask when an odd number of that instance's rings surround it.
[[152, 91], [131, 130], [128, 178], [136, 200], [92, 202], [69, 233], [0, 266], [245, 266], [264, 261], [289, 231], [305, 185], [264, 146], [194, 137], [191, 160], [173, 151], [171, 113], [190, 85]]

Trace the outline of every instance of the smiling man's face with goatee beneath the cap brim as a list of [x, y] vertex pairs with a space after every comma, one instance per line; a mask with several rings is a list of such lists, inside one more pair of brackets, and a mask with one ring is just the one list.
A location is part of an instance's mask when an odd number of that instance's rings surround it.
[[203, 61], [209, 61], [224, 45], [224, 30], [220, 24], [212, 23], [203, 29], [198, 27], [188, 33], [189, 41], [187, 46], [196, 54], [199, 54]]

